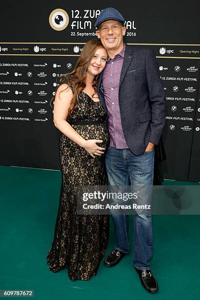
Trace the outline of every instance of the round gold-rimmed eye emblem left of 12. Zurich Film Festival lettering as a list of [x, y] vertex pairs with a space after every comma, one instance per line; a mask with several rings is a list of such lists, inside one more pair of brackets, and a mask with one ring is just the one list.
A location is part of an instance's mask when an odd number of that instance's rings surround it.
[[61, 8], [54, 9], [51, 11], [49, 16], [49, 23], [51, 28], [54, 30], [60, 31], [65, 29], [69, 24], [69, 15], [68, 13]]

